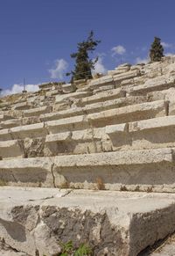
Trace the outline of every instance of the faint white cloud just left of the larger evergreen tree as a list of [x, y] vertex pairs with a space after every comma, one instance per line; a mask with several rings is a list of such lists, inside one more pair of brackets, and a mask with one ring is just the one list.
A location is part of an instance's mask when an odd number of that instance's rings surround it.
[[54, 62], [54, 67], [49, 69], [51, 78], [63, 79], [68, 63], [64, 59], [58, 59]]

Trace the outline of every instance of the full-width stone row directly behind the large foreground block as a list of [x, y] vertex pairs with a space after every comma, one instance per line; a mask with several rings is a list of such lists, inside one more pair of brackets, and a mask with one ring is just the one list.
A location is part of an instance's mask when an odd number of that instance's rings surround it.
[[174, 148], [0, 161], [4, 185], [174, 192]]

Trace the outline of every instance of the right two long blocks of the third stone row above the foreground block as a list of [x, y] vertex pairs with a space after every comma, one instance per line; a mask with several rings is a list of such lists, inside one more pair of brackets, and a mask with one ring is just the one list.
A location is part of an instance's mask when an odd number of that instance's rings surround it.
[[142, 103], [123, 106], [116, 109], [102, 111], [100, 113], [89, 113], [57, 121], [46, 121], [49, 134], [64, 131], [81, 130], [85, 128], [104, 127], [106, 125], [123, 123], [123, 121], [137, 121], [150, 119], [157, 116], [165, 116], [168, 112], [168, 102], [158, 100], [156, 102]]

